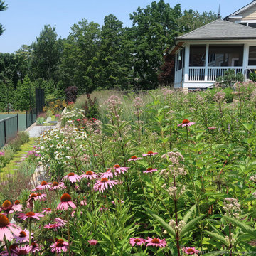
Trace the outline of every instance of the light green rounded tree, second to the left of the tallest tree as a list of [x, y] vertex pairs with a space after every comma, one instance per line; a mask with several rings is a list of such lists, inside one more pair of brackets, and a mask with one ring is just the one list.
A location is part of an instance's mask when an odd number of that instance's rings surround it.
[[64, 89], [75, 85], [80, 93], [89, 92], [93, 78], [87, 75], [87, 68], [100, 47], [100, 25], [82, 19], [71, 27], [63, 44], [60, 80]]

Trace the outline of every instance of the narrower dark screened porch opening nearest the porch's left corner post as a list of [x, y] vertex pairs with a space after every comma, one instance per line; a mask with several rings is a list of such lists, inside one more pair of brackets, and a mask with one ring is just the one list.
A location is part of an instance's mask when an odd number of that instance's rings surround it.
[[204, 67], [206, 65], [206, 45], [192, 45], [189, 51], [189, 66]]

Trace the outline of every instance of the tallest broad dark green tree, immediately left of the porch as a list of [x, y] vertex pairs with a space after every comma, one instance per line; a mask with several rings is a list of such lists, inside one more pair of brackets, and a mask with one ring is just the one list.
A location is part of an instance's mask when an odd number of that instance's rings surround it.
[[129, 14], [134, 35], [134, 85], [141, 89], [158, 86], [158, 73], [163, 62], [164, 51], [174, 42], [178, 34], [181, 6], [171, 8], [164, 0], [152, 2], [145, 9]]

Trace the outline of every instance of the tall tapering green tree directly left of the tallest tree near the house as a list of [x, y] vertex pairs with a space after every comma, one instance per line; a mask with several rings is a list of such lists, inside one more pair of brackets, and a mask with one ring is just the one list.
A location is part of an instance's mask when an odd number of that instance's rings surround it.
[[90, 61], [86, 77], [90, 90], [123, 88], [128, 85], [129, 68], [125, 65], [124, 28], [122, 21], [110, 14], [105, 16], [100, 33], [100, 48]]

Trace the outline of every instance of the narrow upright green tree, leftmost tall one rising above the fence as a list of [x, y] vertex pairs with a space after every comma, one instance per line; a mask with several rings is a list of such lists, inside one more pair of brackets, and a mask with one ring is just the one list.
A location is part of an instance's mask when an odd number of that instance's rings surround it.
[[32, 44], [32, 61], [36, 78], [58, 80], [58, 65], [62, 52], [62, 41], [57, 40], [55, 27], [45, 25]]

